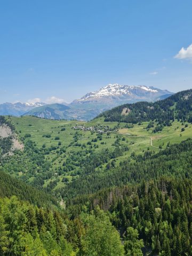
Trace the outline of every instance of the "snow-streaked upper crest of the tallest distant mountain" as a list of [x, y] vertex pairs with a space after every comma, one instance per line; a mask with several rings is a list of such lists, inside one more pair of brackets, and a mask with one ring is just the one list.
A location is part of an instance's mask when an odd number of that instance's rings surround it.
[[108, 84], [98, 91], [87, 93], [78, 101], [91, 100], [92, 98], [121, 97], [124, 95], [131, 96], [134, 94], [157, 93], [159, 91], [161, 90], [144, 85]]

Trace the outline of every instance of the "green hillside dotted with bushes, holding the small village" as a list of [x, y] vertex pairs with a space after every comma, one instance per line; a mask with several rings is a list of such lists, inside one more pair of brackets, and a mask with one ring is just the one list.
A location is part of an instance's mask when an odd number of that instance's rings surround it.
[[129, 125], [105, 122], [103, 117], [79, 122], [23, 116], [11, 117], [11, 122], [25, 149], [3, 158], [1, 169], [49, 191], [67, 187], [87, 172], [106, 172], [124, 159], [134, 162], [133, 155], [154, 154], [167, 143], [192, 137], [192, 125], [178, 121], [155, 133], [157, 122], [149, 128], [150, 122]]

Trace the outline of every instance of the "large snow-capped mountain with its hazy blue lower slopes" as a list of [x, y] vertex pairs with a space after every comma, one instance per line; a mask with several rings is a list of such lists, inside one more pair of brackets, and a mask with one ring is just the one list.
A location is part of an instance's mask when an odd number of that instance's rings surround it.
[[69, 107], [72, 114], [73, 112], [79, 114], [73, 114], [74, 118], [87, 120], [124, 103], [156, 101], [172, 94], [152, 86], [108, 84], [98, 91], [87, 93], [81, 99], [74, 100]]

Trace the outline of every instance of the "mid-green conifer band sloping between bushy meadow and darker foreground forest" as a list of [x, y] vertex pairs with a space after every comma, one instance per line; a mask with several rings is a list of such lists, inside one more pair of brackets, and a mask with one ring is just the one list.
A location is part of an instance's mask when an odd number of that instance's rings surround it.
[[122, 186], [128, 182], [157, 179], [162, 175], [170, 177], [192, 177], [192, 140], [182, 141], [180, 144], [167, 146], [157, 154], [150, 151], [142, 155], [132, 155], [135, 160], [128, 158], [118, 167], [105, 172], [82, 175], [78, 180], [69, 183], [59, 190], [63, 198], [95, 193], [99, 189]]

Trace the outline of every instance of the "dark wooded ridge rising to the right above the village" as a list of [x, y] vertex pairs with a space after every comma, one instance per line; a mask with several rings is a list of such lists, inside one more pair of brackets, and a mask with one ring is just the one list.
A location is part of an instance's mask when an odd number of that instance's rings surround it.
[[[123, 109], [127, 113], [122, 114]], [[152, 102], [137, 102], [124, 104], [105, 111], [99, 117], [105, 117], [106, 122], [139, 123], [156, 121], [159, 124], [170, 125], [174, 119], [192, 122], [192, 89], [181, 91], [171, 97]]]

